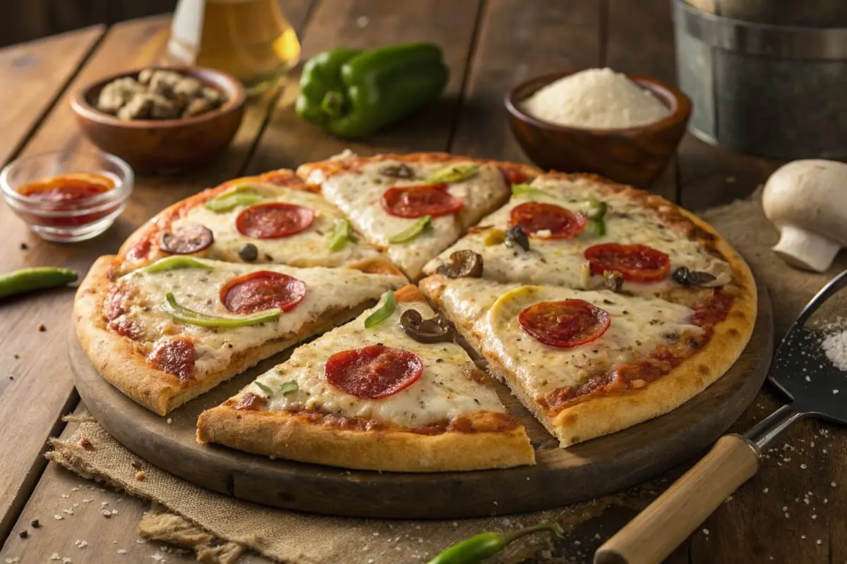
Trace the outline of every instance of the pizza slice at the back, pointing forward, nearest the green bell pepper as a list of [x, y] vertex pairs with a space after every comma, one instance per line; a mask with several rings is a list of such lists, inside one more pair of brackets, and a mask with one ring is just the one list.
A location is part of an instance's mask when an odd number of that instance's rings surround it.
[[501, 206], [512, 183], [539, 172], [445, 153], [349, 156], [297, 169], [412, 280], [428, 260]]

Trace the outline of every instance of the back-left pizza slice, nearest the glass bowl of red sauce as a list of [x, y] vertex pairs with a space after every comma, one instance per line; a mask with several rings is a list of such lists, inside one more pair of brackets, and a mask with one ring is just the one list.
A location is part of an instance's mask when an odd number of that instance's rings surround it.
[[121, 247], [126, 271], [165, 256], [289, 266], [350, 266], [378, 251], [294, 172], [237, 178], [181, 200]]

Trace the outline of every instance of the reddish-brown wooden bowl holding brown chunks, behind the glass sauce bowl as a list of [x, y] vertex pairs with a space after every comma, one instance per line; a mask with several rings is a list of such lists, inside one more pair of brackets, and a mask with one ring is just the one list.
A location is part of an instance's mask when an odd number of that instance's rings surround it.
[[220, 90], [224, 104], [191, 118], [125, 121], [95, 106], [100, 90], [114, 79], [137, 77], [141, 69], [113, 74], [80, 89], [70, 105], [83, 133], [102, 151], [130, 163], [136, 172], [174, 173], [211, 161], [224, 151], [244, 116], [246, 92], [230, 74], [212, 68], [156, 67], [191, 76]]

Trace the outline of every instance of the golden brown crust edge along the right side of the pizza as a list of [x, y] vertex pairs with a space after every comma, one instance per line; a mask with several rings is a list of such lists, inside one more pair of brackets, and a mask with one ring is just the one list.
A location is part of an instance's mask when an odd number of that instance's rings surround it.
[[[667, 203], [670, 204], [669, 202]], [[674, 207], [677, 207], [674, 205]], [[722, 238], [713, 227], [699, 217], [678, 208], [697, 227], [715, 237], [715, 247], [726, 258], [738, 288], [727, 319], [714, 327], [711, 340], [700, 352], [686, 359], [678, 367], [663, 375], [658, 381], [637, 391], [617, 392], [601, 397], [591, 397], [548, 417], [540, 413], [534, 398], [521, 392], [506, 367], [497, 359], [485, 355], [492, 375], [510, 384], [512, 392], [532, 411], [547, 430], [560, 440], [562, 446], [587, 441], [634, 424], [652, 419], [677, 408], [717, 381], [735, 363], [750, 341], [756, 326], [756, 282], [750, 267], [738, 252]], [[424, 293], [444, 310], [441, 293], [449, 279], [435, 275], [420, 282]], [[468, 327], [459, 327], [468, 342], [479, 350], [479, 338]]]

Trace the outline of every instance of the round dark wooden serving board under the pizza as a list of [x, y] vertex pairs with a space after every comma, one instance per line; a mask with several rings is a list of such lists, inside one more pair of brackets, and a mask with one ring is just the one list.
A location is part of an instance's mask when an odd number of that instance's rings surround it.
[[[533, 467], [431, 474], [345, 470], [273, 460], [224, 446], [197, 445], [197, 415], [235, 395], [285, 360], [281, 353], [161, 417], [105, 381], [75, 335], [70, 363], [76, 387], [103, 428], [147, 462], [196, 485], [246, 501], [351, 517], [482, 517], [561, 507], [638, 484], [694, 457], [728, 429], [756, 396], [773, 347], [771, 304], [757, 282], [759, 315], [738, 362], [671, 413], [567, 449], [505, 386], [501, 399], [536, 447]], [[498, 385], [499, 386], [499, 385]]]

